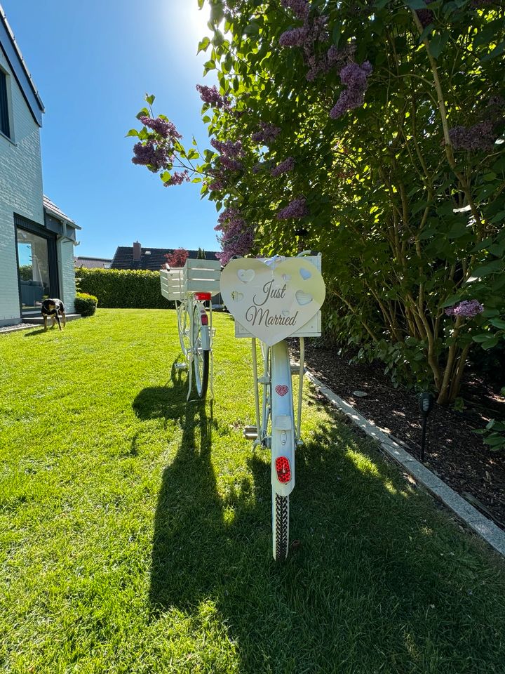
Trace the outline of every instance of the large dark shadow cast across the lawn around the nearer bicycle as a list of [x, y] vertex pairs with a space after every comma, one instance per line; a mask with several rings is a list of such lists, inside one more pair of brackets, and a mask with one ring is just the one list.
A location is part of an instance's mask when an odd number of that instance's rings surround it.
[[[325, 407], [316, 396], [309, 404]], [[468, 615], [486, 590], [475, 582], [473, 597], [454, 598], [454, 560], [440, 557], [452, 550], [465, 562], [469, 544], [455, 532], [436, 535], [438, 515], [412, 510], [419, 496], [352, 428], [325, 422], [297, 451], [290, 538], [299, 545], [276, 564], [268, 453], [252, 453], [251, 477], [230, 479], [223, 491], [206, 405], [184, 399], [180, 425], [154, 521], [153, 620], [179, 609], [194, 616], [198, 631], [201, 607], [210, 602], [226, 626], [222, 638], [236, 645], [239, 672], [361, 674], [403, 664], [427, 672], [430, 661], [453, 671], [452, 658], [473, 657], [490, 627], [483, 614], [476, 622]], [[229, 441], [232, 451], [232, 434]], [[426, 519], [419, 521], [419, 512]], [[485, 597], [478, 601], [485, 606]], [[447, 630], [457, 647], [447, 647]]]

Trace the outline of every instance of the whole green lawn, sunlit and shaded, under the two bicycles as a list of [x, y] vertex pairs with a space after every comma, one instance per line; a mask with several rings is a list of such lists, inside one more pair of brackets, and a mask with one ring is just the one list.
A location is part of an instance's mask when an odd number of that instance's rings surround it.
[[1, 671], [502, 674], [501, 560], [309, 385], [274, 564], [250, 346], [215, 325], [213, 409], [172, 311], [0, 336]]

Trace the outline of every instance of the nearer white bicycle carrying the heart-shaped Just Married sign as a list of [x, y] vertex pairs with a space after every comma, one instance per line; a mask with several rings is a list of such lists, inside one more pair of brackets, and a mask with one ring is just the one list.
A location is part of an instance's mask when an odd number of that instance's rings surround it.
[[[303, 263], [290, 263], [286, 273], [282, 274], [286, 260], [303, 259]], [[324, 283], [321, 277], [321, 255], [311, 256], [309, 251], [300, 253], [298, 258], [271, 258], [270, 260], [253, 260], [247, 268], [247, 258], [231, 260], [222, 272], [221, 292], [224, 303], [235, 317], [236, 337], [252, 338], [253, 382], [255, 393], [256, 425], [246, 426], [245, 437], [254, 441], [254, 447], [264, 447], [271, 453], [271, 525], [272, 553], [274, 560], [283, 561], [289, 550], [289, 511], [290, 494], [295, 487], [295, 449], [303, 444], [300, 437], [302, 425], [302, 395], [304, 377], [304, 338], [321, 335], [321, 307], [324, 299]], [[277, 264], [278, 261], [278, 264]], [[260, 264], [269, 265], [270, 272], [264, 272]], [[245, 268], [242, 268], [245, 267]], [[278, 267], [278, 269], [277, 269]], [[301, 289], [288, 293], [288, 285], [295, 281], [297, 270], [303, 279], [311, 278], [311, 293]], [[277, 273], [278, 272], [278, 273]], [[262, 279], [254, 285], [255, 275]], [[237, 281], [238, 279], [238, 281]], [[248, 288], [250, 284], [250, 300]], [[321, 290], [322, 289], [322, 290]], [[261, 295], [263, 292], [263, 295]], [[263, 296], [267, 299], [263, 301]], [[289, 305], [290, 297], [292, 303]], [[267, 300], [271, 298], [281, 310], [270, 312]], [[285, 300], [285, 304], [283, 304]], [[249, 301], [251, 305], [248, 306]], [[309, 321], [297, 324], [299, 309], [307, 307], [314, 301], [316, 308]], [[244, 303], [245, 302], [245, 303]], [[298, 302], [298, 303], [297, 303]], [[282, 308], [285, 306], [285, 308]], [[266, 312], [269, 312], [268, 314]], [[261, 312], [261, 314], [260, 314]], [[254, 332], [258, 329], [258, 321], [267, 328], [269, 322], [292, 326], [286, 327], [285, 336], [299, 338], [299, 364], [290, 363], [288, 342], [285, 338], [274, 341], [270, 345]], [[304, 320], [304, 315], [300, 317]], [[292, 322], [289, 323], [290, 319]], [[240, 322], [249, 322], [246, 326]], [[258, 368], [257, 341], [260, 341], [261, 372]], [[292, 375], [298, 376], [297, 409], [293, 397]]]

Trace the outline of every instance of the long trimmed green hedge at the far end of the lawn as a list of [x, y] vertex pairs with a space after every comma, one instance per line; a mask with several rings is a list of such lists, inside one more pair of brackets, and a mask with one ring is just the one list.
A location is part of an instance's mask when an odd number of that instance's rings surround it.
[[168, 309], [173, 307], [161, 294], [159, 272], [123, 269], [76, 269], [81, 293], [98, 298], [105, 309]]

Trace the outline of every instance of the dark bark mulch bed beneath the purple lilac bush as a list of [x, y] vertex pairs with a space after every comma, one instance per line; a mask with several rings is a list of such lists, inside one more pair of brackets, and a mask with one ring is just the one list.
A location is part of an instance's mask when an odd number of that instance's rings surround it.
[[[292, 343], [292, 350], [295, 355], [297, 343]], [[339, 397], [420, 459], [422, 416], [415, 394], [393, 388], [382, 363], [352, 364], [351, 356], [306, 344], [305, 364]], [[491, 451], [473, 432], [491, 418], [505, 417], [505, 399], [499, 389], [469, 371], [460, 394], [464, 411], [434, 405], [426, 427], [424, 465], [505, 529], [505, 454]], [[355, 391], [368, 395], [358, 397]]]

